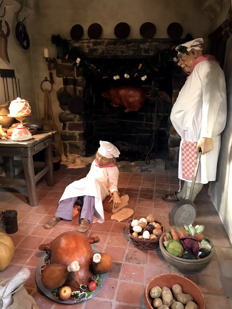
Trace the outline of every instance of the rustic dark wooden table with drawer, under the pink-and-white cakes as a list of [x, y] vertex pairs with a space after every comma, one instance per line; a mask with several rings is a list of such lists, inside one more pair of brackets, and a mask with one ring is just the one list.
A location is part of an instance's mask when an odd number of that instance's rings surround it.
[[[15, 142], [11, 138], [3, 141], [0, 139], [0, 156], [4, 157], [7, 163], [6, 176], [0, 176], [0, 184], [26, 185], [28, 190], [29, 205], [37, 206], [36, 182], [45, 175], [47, 185], [54, 186], [53, 179], [53, 155], [52, 143], [55, 140], [57, 131], [38, 131], [28, 141]], [[32, 155], [45, 150], [45, 162], [34, 162]], [[22, 161], [14, 160], [14, 157], [21, 157]], [[4, 164], [6, 165], [6, 164]], [[15, 179], [15, 167], [23, 166], [25, 179]], [[34, 167], [42, 168], [35, 175]]]

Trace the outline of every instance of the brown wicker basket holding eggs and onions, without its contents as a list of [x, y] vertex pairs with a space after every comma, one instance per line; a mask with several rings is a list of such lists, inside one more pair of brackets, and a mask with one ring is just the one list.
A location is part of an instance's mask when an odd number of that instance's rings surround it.
[[[142, 249], [142, 250], [152, 250], [152, 249], [155, 249], [159, 246], [159, 240], [160, 240], [161, 235], [158, 236], [157, 238], [153, 238], [153, 239], [144, 239], [144, 238], [134, 237], [131, 234], [131, 233], [133, 233], [133, 228], [131, 226], [131, 222], [132, 222], [131, 219], [127, 221], [125, 231], [126, 231], [127, 235], [130, 237], [130, 239], [131, 239], [132, 243], [135, 245], [135, 247]], [[161, 229], [162, 229], [163, 233], [165, 233], [165, 226], [157, 220], [155, 220], [154, 222], [159, 223], [161, 225]]]

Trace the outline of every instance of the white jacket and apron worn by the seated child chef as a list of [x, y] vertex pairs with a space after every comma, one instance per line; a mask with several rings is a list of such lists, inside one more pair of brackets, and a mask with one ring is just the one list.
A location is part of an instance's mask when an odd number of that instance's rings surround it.
[[70, 197], [83, 195], [94, 196], [95, 212], [93, 222], [104, 222], [104, 210], [102, 201], [105, 197], [118, 191], [118, 167], [98, 167], [95, 160], [92, 162], [88, 175], [80, 180], [69, 184], [60, 199], [65, 200]]

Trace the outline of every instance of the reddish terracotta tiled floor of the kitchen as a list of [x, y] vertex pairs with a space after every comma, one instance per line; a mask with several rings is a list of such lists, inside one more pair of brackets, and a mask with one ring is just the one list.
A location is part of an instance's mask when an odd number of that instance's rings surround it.
[[[54, 174], [55, 185], [48, 187], [43, 180], [37, 185], [39, 205], [31, 207], [24, 197], [25, 190], [0, 188], [0, 209], [16, 209], [19, 231], [9, 235], [15, 244], [15, 255], [9, 267], [0, 273], [0, 278], [11, 277], [22, 267], [31, 270], [31, 277], [24, 284], [37, 305], [45, 309], [67, 308], [53, 303], [37, 292], [34, 271], [41, 252], [40, 243], [49, 243], [65, 231], [75, 231], [78, 227], [78, 214], [71, 222], [61, 221], [51, 230], [43, 224], [54, 214], [58, 200], [65, 187], [72, 181], [86, 175], [87, 169], [67, 168], [62, 165]], [[176, 170], [151, 173], [121, 173], [118, 188], [129, 194], [129, 207], [135, 210], [134, 217], [153, 214], [168, 230], [168, 214], [174, 203], [161, 199], [161, 194], [178, 190]], [[221, 224], [215, 208], [206, 196], [206, 187], [195, 200], [197, 224], [204, 224], [205, 234], [211, 237], [216, 253], [207, 268], [199, 273], [183, 273], [194, 281], [204, 293], [207, 309], [232, 309], [232, 249], [226, 231]], [[9, 192], [12, 191], [12, 192]], [[127, 206], [128, 207], [128, 206]], [[105, 213], [103, 224], [91, 224], [88, 235], [99, 236], [100, 243], [94, 244], [101, 252], [108, 253], [113, 260], [113, 268], [104, 289], [96, 297], [75, 305], [79, 309], [130, 309], [145, 308], [143, 292], [146, 283], [162, 273], [179, 273], [162, 257], [159, 249], [141, 251], [134, 247], [124, 232], [125, 223], [110, 219]], [[1, 228], [0, 228], [0, 231]], [[230, 307], [231, 306], [231, 307]]]

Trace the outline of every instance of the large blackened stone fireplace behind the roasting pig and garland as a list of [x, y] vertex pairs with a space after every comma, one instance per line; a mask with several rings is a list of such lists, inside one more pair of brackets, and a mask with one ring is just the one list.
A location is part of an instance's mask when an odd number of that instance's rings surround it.
[[[161, 40], [125, 40], [127, 42], [122, 42], [122, 45], [118, 42], [115, 44], [116, 40], [81, 40], [87, 41], [82, 42], [81, 47], [87, 56], [92, 58], [91, 61], [96, 67], [102, 64], [107, 66], [110, 61], [114, 61], [116, 66], [123, 66], [129, 62], [131, 66], [136, 67], [145, 57], [150, 57], [155, 48], [172, 45], [168, 39]], [[175, 78], [178, 76], [176, 73], [179, 74], [179, 70], [170, 63], [159, 71], [148, 72], [145, 81], [133, 77], [128, 80], [120, 78], [117, 81], [113, 78], [86, 80], [82, 72], [77, 69], [76, 90], [84, 99], [84, 111], [75, 115], [69, 112], [67, 106], [60, 105], [63, 110], [59, 118], [63, 123], [61, 138], [64, 155], [72, 161], [79, 156], [91, 156], [97, 151], [99, 140], [105, 140], [118, 147], [121, 152], [119, 160], [122, 161], [144, 160], [149, 163], [151, 159], [166, 159], [168, 154], [172, 161], [177, 161], [176, 144], [179, 142], [179, 137], [174, 128], [171, 128], [171, 137], [174, 137], [172, 142], [169, 133], [172, 104], [159, 96], [159, 92], [163, 91], [172, 98], [173, 91], [176, 91], [180, 84], [176, 80], [181, 79]], [[71, 64], [62, 60], [62, 64], [57, 68], [57, 76], [70, 76], [67, 77], [67, 90], [71, 94], [73, 74]], [[124, 107], [113, 107], [109, 99], [101, 96], [102, 92], [120, 86], [142, 87], [146, 90], [146, 99], [138, 111], [125, 113]], [[59, 89], [57, 95], [62, 90], [63, 88]]]

